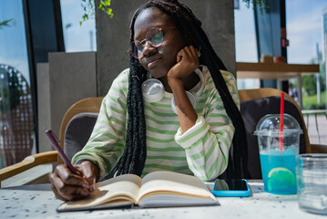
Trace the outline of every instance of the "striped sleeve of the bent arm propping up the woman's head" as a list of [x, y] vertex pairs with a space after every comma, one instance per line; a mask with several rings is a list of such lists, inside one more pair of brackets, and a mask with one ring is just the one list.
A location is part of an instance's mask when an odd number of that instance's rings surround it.
[[[222, 75], [239, 107], [235, 78], [229, 72], [223, 72]], [[202, 181], [213, 180], [226, 170], [235, 131], [218, 90], [211, 89], [209, 97], [206, 104], [208, 113], [199, 116], [192, 128], [184, 133], [179, 128], [175, 135], [175, 141], [186, 151], [189, 169]]]

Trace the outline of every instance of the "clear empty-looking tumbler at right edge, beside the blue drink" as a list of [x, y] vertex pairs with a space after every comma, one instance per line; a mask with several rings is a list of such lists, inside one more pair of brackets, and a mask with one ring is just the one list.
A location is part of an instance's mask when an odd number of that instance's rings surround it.
[[314, 214], [327, 214], [327, 154], [297, 156], [299, 207]]

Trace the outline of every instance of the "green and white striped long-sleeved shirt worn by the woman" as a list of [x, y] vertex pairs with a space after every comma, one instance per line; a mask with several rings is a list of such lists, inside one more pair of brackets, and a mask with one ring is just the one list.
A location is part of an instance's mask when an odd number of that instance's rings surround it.
[[[193, 174], [202, 181], [217, 178], [227, 168], [234, 127], [207, 67], [194, 106], [198, 120], [182, 133], [179, 118], [171, 110], [172, 93], [159, 102], [144, 103], [147, 123], [147, 159], [142, 176], [148, 172], [172, 171]], [[240, 108], [235, 78], [221, 71], [230, 94]], [[73, 162], [90, 160], [100, 176], [110, 172], [124, 151], [128, 124], [127, 96], [129, 69], [118, 75], [102, 102], [97, 123], [87, 145]]]

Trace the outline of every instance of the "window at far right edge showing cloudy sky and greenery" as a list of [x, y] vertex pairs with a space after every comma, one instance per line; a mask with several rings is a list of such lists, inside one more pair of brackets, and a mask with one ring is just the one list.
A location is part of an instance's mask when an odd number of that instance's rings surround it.
[[[325, 109], [326, 105], [326, 0], [287, 0], [286, 27], [291, 64], [320, 64], [319, 74], [302, 77], [303, 110]], [[292, 81], [294, 84], [296, 80]]]

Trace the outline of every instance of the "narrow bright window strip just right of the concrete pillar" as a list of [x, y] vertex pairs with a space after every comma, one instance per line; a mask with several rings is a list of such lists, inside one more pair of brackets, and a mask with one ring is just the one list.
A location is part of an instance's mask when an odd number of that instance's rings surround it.
[[[235, 48], [237, 62], [258, 62], [253, 9], [240, 2], [235, 14]], [[238, 79], [239, 89], [258, 89], [259, 79]]]

